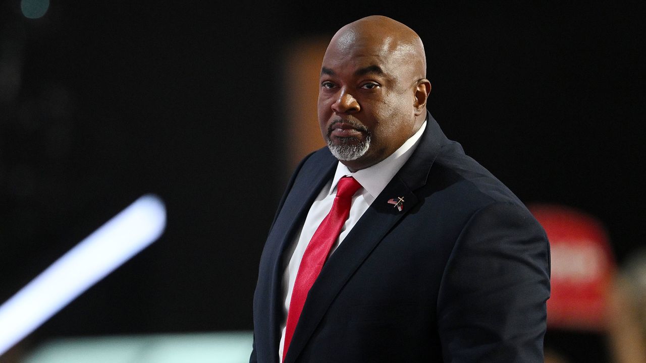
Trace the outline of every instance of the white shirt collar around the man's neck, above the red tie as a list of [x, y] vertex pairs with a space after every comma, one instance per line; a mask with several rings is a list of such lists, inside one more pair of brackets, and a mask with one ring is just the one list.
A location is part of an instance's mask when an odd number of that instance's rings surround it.
[[[422, 126], [406, 140], [399, 149], [395, 150], [388, 158], [379, 161], [375, 165], [368, 167], [366, 169], [361, 169], [356, 172], [349, 171], [346, 165], [343, 165], [340, 161], [337, 163], [337, 171], [332, 178], [332, 185], [330, 186], [328, 194], [336, 192], [337, 183], [340, 178], [344, 176], [352, 176], [361, 184], [364, 188], [364, 197], [368, 199], [368, 202], [371, 203], [381, 191], [384, 190], [386, 185], [390, 180], [397, 174], [399, 169], [408, 161], [413, 151], [417, 148], [419, 144], [419, 139], [422, 137], [422, 133], [426, 129], [426, 121], [422, 123]], [[366, 195], [366, 192], [368, 195]]]

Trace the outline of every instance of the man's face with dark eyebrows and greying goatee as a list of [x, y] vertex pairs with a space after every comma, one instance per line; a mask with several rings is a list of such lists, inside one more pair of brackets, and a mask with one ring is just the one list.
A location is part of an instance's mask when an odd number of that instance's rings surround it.
[[416, 130], [417, 79], [390, 43], [348, 32], [333, 39], [323, 59], [318, 122], [331, 152], [351, 171], [384, 160]]

